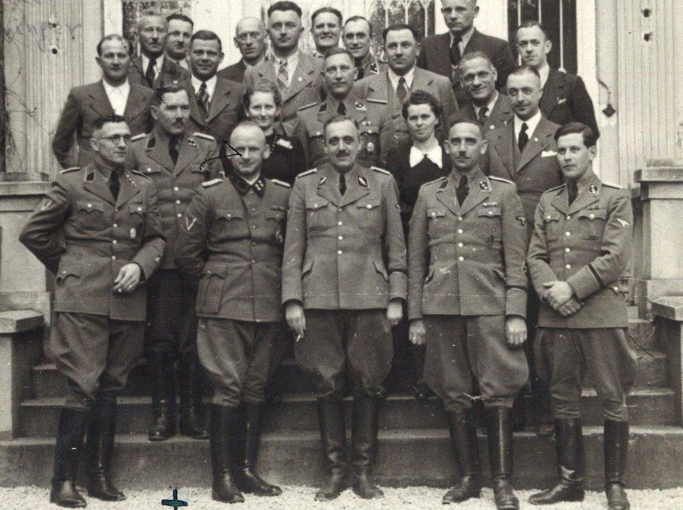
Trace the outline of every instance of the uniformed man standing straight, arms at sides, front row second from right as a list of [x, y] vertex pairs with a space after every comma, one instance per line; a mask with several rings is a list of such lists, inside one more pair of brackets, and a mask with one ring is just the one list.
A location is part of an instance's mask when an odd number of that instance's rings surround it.
[[486, 141], [456, 119], [445, 143], [453, 170], [423, 184], [409, 232], [409, 339], [427, 344], [425, 382], [444, 402], [460, 481], [444, 503], [479, 497], [472, 376], [486, 410], [495, 506], [512, 491], [512, 402], [528, 378], [524, 211], [509, 180], [486, 177]]

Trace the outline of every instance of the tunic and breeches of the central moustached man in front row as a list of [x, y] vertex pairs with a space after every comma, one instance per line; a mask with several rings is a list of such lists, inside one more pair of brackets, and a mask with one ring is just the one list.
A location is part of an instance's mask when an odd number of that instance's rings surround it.
[[393, 346], [386, 308], [406, 293], [406, 253], [393, 177], [355, 165], [339, 192], [330, 164], [297, 177], [290, 197], [282, 302], [299, 302], [307, 329], [297, 362], [318, 395], [381, 395]]

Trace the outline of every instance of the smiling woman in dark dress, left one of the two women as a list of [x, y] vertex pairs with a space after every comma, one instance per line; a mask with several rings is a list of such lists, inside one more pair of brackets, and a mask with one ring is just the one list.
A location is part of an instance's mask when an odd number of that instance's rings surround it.
[[[270, 146], [270, 155], [263, 160], [261, 175], [293, 184], [296, 176], [306, 170], [306, 160], [301, 143], [296, 138], [286, 136], [281, 123], [277, 121], [281, 106], [282, 97], [278, 87], [266, 81], [247, 87], [242, 97], [244, 116], [263, 130], [266, 143]], [[229, 153], [230, 149], [227, 151]], [[230, 157], [221, 160], [227, 175], [232, 171]]]

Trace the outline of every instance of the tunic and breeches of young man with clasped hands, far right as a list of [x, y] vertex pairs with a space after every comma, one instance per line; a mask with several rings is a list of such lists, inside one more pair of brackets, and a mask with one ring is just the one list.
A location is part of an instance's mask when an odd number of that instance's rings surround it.
[[566, 281], [581, 309], [563, 317], [541, 300], [535, 354], [550, 381], [556, 418], [581, 416], [582, 377], [591, 373], [605, 417], [628, 420], [626, 396], [638, 358], [626, 337], [628, 313], [619, 278], [631, 255], [633, 213], [626, 190], [593, 175], [569, 204], [566, 185], [542, 194], [528, 253], [534, 288]]

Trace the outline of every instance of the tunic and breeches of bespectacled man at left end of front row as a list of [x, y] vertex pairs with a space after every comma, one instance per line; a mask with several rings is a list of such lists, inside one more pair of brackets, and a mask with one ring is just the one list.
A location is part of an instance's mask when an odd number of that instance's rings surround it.
[[166, 246], [153, 183], [124, 172], [114, 199], [103, 173], [94, 163], [62, 171], [20, 234], [57, 275], [49, 350], [75, 408], [124, 387], [142, 352], [146, 285], [114, 293], [114, 280], [131, 262], [150, 278]]

